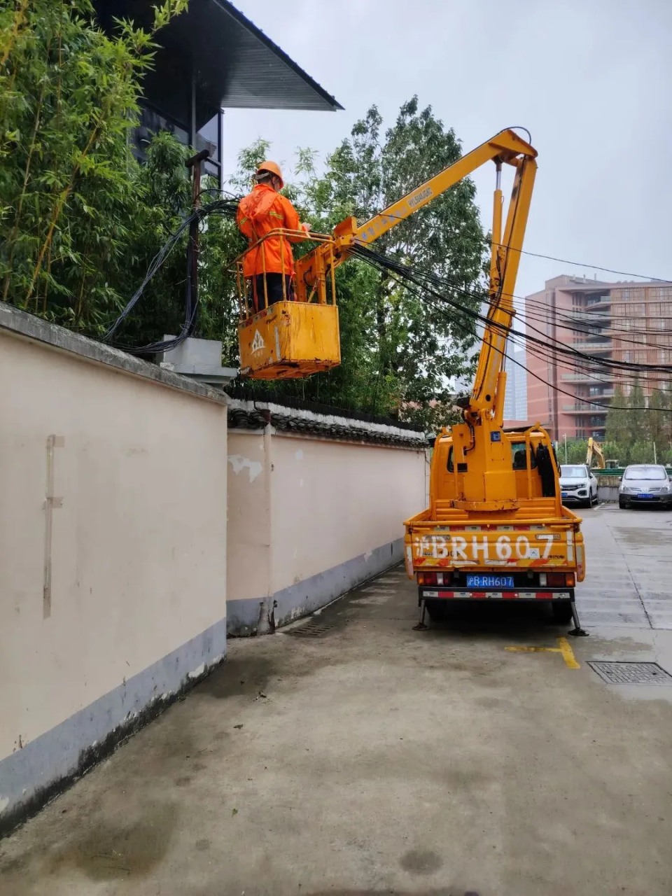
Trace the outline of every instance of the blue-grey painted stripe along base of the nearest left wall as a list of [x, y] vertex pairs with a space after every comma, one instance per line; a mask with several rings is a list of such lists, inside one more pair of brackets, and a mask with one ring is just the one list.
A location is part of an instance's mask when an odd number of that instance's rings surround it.
[[22, 814], [38, 809], [53, 796], [59, 780], [68, 780], [97, 761], [100, 757], [87, 755], [94, 745], [118, 732], [109, 743], [112, 749], [140, 727], [139, 715], [152, 705], [153, 714], [158, 714], [158, 704], [168, 705], [185, 686], [206, 675], [226, 653], [226, 629], [227, 621], [221, 619], [0, 761], [0, 830], [8, 820], [21, 821]]

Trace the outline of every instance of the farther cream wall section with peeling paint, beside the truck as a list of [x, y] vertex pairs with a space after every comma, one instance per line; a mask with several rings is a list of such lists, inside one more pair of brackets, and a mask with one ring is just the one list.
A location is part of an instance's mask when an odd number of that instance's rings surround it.
[[264, 600], [286, 622], [400, 560], [426, 505], [424, 450], [268, 427], [229, 431], [228, 461], [230, 633], [254, 631]]

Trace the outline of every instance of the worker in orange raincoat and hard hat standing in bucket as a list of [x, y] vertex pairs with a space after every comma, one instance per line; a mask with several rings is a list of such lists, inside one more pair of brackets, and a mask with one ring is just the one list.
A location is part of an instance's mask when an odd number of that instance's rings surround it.
[[[307, 234], [307, 224], [301, 224], [292, 203], [280, 195], [284, 182], [277, 162], [262, 162], [254, 180], [252, 193], [241, 199], [236, 217], [238, 228], [250, 246], [278, 228], [304, 230]], [[247, 252], [243, 260], [243, 276], [252, 280], [255, 313], [275, 302], [294, 301], [294, 255], [289, 244], [298, 243], [303, 238], [269, 237]]]

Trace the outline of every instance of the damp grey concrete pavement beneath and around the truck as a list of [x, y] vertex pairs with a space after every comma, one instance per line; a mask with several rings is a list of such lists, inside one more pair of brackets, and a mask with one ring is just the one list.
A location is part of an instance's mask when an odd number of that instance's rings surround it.
[[557, 649], [568, 626], [542, 607], [413, 632], [401, 570], [292, 633], [230, 642], [0, 843], [0, 893], [669, 896], [672, 687], [605, 685], [586, 660], [672, 671], [672, 551], [654, 549], [671, 523], [585, 513], [581, 668], [506, 650]]

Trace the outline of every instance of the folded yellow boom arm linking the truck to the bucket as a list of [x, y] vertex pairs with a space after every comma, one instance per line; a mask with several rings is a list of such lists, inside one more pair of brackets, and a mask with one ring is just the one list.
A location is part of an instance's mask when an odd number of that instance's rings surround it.
[[[494, 161], [497, 171], [490, 260], [490, 307], [483, 336], [478, 371], [465, 417], [472, 422], [484, 411], [501, 417], [504, 404], [504, 349], [506, 332], [513, 319], [513, 290], [525, 235], [532, 185], [537, 169], [537, 151], [512, 130], [501, 131], [477, 149], [468, 152], [448, 168], [424, 184], [392, 202], [384, 211], [361, 226], [355, 218], [347, 218], [333, 230], [334, 244], [317, 246], [297, 261], [297, 299], [310, 301], [315, 292], [326, 289], [332, 265], [349, 257], [355, 244], [367, 245], [406, 220], [428, 202], [468, 177], [487, 161]], [[516, 169], [513, 193], [502, 234], [503, 196], [500, 185], [502, 165]]]

